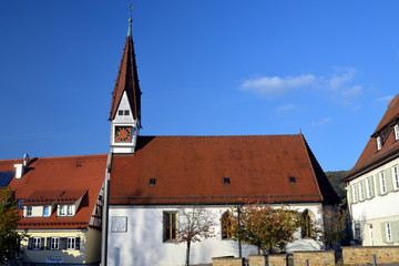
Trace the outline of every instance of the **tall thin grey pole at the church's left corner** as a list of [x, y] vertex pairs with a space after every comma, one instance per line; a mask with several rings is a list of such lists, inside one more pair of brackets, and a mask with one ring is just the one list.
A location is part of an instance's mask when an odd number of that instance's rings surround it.
[[110, 198], [110, 176], [112, 166], [112, 152], [109, 153], [106, 160], [105, 177], [104, 177], [104, 207], [102, 214], [102, 232], [101, 232], [101, 266], [106, 266], [108, 257], [108, 222], [109, 222], [109, 198]]

